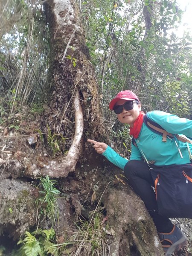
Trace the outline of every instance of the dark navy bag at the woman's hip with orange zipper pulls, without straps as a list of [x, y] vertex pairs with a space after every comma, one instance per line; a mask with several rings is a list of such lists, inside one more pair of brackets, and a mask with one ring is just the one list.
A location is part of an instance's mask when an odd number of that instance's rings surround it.
[[192, 164], [150, 168], [160, 215], [192, 218]]

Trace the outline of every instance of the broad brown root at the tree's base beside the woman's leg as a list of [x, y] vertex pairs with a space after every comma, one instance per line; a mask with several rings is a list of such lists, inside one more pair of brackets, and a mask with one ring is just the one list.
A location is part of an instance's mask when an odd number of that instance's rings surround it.
[[163, 256], [153, 221], [131, 188], [127, 186], [122, 191], [111, 188], [107, 194], [103, 203], [110, 226], [116, 230], [111, 255]]

